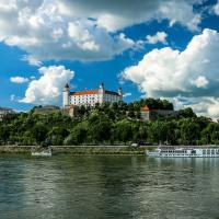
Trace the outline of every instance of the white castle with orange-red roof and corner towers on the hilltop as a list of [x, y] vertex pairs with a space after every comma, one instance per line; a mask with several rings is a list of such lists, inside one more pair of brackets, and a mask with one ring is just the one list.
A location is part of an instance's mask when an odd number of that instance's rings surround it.
[[118, 89], [117, 92], [107, 91], [104, 84], [101, 83], [100, 88], [96, 90], [83, 90], [70, 92], [69, 84], [67, 83], [62, 92], [62, 106], [95, 106], [96, 103], [113, 103], [123, 101], [123, 90]]

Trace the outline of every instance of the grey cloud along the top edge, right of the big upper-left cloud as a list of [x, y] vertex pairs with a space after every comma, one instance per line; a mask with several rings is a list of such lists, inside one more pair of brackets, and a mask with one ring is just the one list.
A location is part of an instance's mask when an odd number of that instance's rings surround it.
[[64, 14], [88, 14], [96, 20], [101, 27], [107, 31], [117, 31], [124, 27], [151, 21], [153, 19], [168, 19], [170, 24], [178, 22], [189, 30], [197, 30], [200, 15], [193, 11], [193, 4], [198, 0], [84, 0], [83, 2], [62, 0], [59, 1], [60, 11]]

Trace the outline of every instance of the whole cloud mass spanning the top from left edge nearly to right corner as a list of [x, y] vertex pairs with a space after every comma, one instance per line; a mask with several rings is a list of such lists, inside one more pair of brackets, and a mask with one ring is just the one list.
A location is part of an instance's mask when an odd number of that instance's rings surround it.
[[[198, 0], [1, 0], [0, 41], [19, 46], [38, 60], [105, 60], [135, 47], [120, 34], [134, 24], [168, 19], [197, 30], [199, 14], [193, 11]], [[9, 25], [10, 24], [10, 25]], [[111, 33], [115, 32], [115, 33]]]

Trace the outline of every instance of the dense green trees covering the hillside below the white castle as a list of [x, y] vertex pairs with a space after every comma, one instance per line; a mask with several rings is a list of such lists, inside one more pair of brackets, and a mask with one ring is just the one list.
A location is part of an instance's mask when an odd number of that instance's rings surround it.
[[143, 122], [140, 107], [173, 110], [168, 101], [147, 99], [134, 103], [81, 106], [76, 117], [61, 112], [38, 115], [32, 110], [0, 122], [0, 145], [205, 145], [219, 142], [219, 124], [185, 108], [169, 118]]

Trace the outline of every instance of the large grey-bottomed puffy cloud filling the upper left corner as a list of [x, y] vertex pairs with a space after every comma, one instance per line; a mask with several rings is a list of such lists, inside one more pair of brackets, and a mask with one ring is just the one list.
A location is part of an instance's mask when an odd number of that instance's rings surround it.
[[35, 66], [41, 60], [105, 60], [135, 46], [87, 15], [62, 13], [57, 0], [10, 0], [0, 7], [0, 41], [25, 50], [30, 56], [23, 59]]

